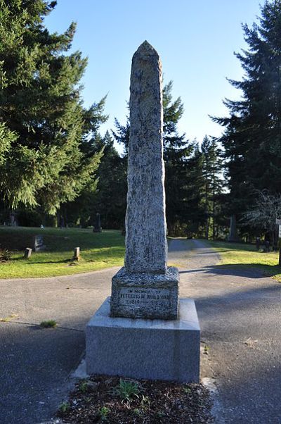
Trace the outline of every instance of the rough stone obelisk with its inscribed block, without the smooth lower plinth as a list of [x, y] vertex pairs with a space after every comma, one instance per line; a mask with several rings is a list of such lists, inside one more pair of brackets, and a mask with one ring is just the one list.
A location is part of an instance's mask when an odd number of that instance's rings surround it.
[[178, 270], [167, 268], [162, 65], [144, 42], [131, 67], [125, 266], [112, 279], [111, 316], [178, 317]]

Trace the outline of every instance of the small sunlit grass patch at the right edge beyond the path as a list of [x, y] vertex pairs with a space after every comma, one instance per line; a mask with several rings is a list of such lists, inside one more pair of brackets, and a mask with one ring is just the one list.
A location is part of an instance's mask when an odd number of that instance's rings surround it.
[[220, 254], [223, 266], [258, 268], [264, 275], [281, 282], [281, 266], [278, 266], [279, 252], [263, 253], [251, 244], [207, 242]]

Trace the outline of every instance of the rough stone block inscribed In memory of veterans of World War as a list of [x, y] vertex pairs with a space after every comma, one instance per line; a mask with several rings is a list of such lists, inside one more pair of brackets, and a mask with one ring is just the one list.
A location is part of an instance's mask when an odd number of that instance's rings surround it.
[[122, 268], [112, 278], [112, 316], [176, 319], [178, 316], [178, 270], [164, 274], [129, 273]]

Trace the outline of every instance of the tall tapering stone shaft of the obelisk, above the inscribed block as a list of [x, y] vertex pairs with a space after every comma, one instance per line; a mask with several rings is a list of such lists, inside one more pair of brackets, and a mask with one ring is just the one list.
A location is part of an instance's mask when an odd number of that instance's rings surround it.
[[148, 42], [133, 55], [130, 89], [125, 266], [132, 273], [165, 273], [162, 65]]

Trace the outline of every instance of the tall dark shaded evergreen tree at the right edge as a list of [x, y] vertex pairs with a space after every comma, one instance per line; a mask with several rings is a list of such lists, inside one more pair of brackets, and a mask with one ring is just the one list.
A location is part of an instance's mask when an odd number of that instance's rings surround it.
[[244, 70], [242, 99], [226, 99], [230, 116], [220, 142], [227, 163], [230, 214], [251, 210], [257, 190], [281, 187], [281, 1], [266, 1], [253, 27], [243, 25], [248, 49], [236, 54]]

